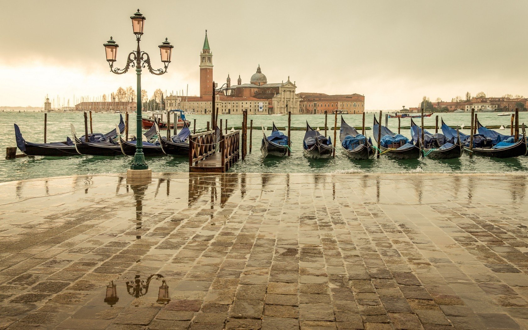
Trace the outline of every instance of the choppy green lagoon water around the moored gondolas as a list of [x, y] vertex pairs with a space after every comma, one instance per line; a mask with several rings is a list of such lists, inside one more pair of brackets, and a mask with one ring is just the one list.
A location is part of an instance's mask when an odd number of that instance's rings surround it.
[[[447, 124], [464, 124], [467, 129], [461, 132], [468, 134], [470, 126], [469, 114], [441, 114]], [[510, 117], [498, 117], [495, 113], [479, 114], [479, 120], [483, 125], [509, 125]], [[84, 119], [82, 113], [52, 113], [48, 114], [48, 142], [65, 140], [70, 134], [70, 123], [76, 126], [78, 132], [84, 131]], [[135, 117], [130, 115], [130, 132], [135, 131]], [[210, 120], [207, 115], [190, 115], [187, 119], [193, 122], [196, 118], [197, 128], [204, 128]], [[361, 115], [344, 115], [346, 122], [352, 126], [361, 126]], [[367, 114], [366, 126], [372, 126], [373, 114]], [[241, 126], [242, 115], [220, 115], [219, 119], [228, 119], [228, 127]], [[431, 158], [398, 161], [381, 156], [380, 159], [372, 161], [352, 161], [346, 157], [338, 146], [336, 157], [331, 159], [308, 159], [303, 154], [304, 131], [291, 131], [292, 153], [290, 157], [278, 159], [262, 159], [260, 154], [260, 142], [262, 131], [260, 126], [270, 127], [272, 121], [278, 127], [286, 127], [287, 116], [277, 115], [249, 115], [253, 119], [252, 153], [248, 154], [244, 162], [239, 161], [230, 172], [259, 172], [259, 173], [505, 173], [505, 172], [528, 172], [528, 157], [511, 159], [491, 159], [475, 156], [470, 159], [464, 154], [460, 159], [449, 159], [439, 161]], [[521, 112], [520, 122], [528, 122], [528, 112]], [[306, 120], [314, 129], [318, 126], [324, 127], [324, 115], [295, 115], [291, 116], [292, 127], [305, 127]], [[93, 114], [93, 131], [107, 133], [119, 121], [118, 114]], [[418, 119], [420, 121], [420, 119]], [[27, 141], [43, 142], [44, 114], [42, 112], [0, 112], [0, 147], [2, 153], [5, 147], [16, 146], [13, 123], [20, 126], [22, 134]], [[338, 118], [338, 125], [340, 118]], [[382, 123], [384, 124], [384, 116]], [[401, 119], [402, 126], [409, 126], [410, 119]], [[333, 127], [334, 117], [328, 115], [328, 127]], [[426, 126], [435, 125], [435, 115], [425, 119]], [[225, 124], [224, 124], [225, 128]], [[389, 128], [393, 131], [398, 129], [398, 119], [389, 119]], [[270, 131], [267, 131], [269, 134]], [[510, 134], [510, 129], [501, 131]], [[133, 133], [132, 133], [133, 134]], [[409, 129], [402, 129], [402, 134], [410, 137]], [[327, 135], [333, 138], [333, 131]], [[337, 132], [337, 135], [338, 132]], [[371, 136], [372, 130], [367, 130], [366, 135]], [[248, 131], [249, 138], [249, 131]], [[339, 137], [337, 136], [337, 139]], [[248, 143], [249, 144], [249, 143]], [[20, 153], [20, 150], [18, 150]], [[96, 173], [123, 173], [130, 166], [131, 157], [95, 157], [95, 156], [72, 156], [72, 157], [35, 157], [17, 158], [5, 160], [0, 157], [0, 182], [24, 180], [27, 178], [38, 178], [48, 176], [74, 175], [74, 174], [96, 174]], [[187, 172], [188, 159], [186, 157], [148, 157], [147, 163], [154, 172]]]

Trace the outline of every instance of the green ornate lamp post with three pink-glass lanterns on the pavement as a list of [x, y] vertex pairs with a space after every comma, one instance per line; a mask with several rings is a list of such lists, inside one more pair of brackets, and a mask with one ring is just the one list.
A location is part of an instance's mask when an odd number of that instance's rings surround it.
[[146, 52], [142, 52], [139, 48], [139, 42], [143, 35], [143, 27], [145, 25], [145, 16], [137, 10], [133, 16], [130, 16], [132, 20], [132, 27], [134, 34], [136, 35], [137, 49], [128, 54], [127, 63], [124, 69], [114, 68], [114, 62], [117, 57], [117, 48], [119, 45], [110, 37], [107, 43], [103, 44], [106, 50], [106, 60], [110, 65], [110, 71], [116, 74], [123, 74], [128, 71], [130, 67], [136, 68], [137, 74], [137, 107], [136, 107], [136, 153], [134, 154], [134, 161], [130, 165], [130, 169], [148, 169], [147, 162], [145, 161], [145, 155], [143, 154], [143, 132], [142, 132], [142, 114], [141, 114], [141, 68], [148, 68], [148, 71], [152, 74], [160, 76], [167, 72], [168, 64], [171, 63], [171, 53], [174, 48], [170, 42], [165, 41], [159, 45], [159, 52], [161, 54], [161, 60], [164, 63], [163, 69], [153, 69], [150, 65], [150, 57]]

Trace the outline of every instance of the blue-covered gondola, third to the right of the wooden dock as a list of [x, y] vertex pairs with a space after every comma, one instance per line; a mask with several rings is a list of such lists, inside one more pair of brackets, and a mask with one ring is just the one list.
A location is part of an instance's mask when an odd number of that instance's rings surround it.
[[341, 147], [346, 155], [357, 161], [374, 158], [374, 149], [372, 141], [360, 134], [354, 127], [346, 124], [345, 119], [341, 116], [341, 129], [339, 131]]

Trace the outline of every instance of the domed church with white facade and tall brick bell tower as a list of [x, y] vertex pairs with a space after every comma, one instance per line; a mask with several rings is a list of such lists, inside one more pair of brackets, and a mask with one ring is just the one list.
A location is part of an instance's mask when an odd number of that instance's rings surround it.
[[[299, 114], [300, 98], [296, 95], [295, 82], [289, 77], [286, 82], [268, 83], [260, 64], [249, 81], [242, 83], [240, 75], [237, 84], [231, 84], [228, 75], [227, 86], [233, 89], [231, 96], [215, 96], [215, 106], [219, 114], [241, 114], [247, 110], [252, 115]], [[200, 96], [182, 97], [180, 108], [195, 114], [211, 114], [213, 91], [213, 53], [209, 46], [207, 31], [200, 53]]]

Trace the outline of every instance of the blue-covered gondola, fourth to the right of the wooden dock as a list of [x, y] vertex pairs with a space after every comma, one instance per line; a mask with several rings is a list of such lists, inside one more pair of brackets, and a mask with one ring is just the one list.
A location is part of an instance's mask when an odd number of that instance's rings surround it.
[[[378, 119], [374, 116], [372, 134], [374, 135], [374, 140], [376, 142], [378, 142], [379, 127], [380, 124]], [[389, 128], [381, 126], [380, 151], [394, 159], [418, 159], [421, 154], [420, 140], [416, 143], [412, 143], [412, 141], [409, 141], [409, 139], [403, 135], [395, 134]]]

